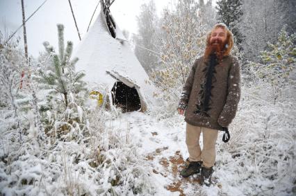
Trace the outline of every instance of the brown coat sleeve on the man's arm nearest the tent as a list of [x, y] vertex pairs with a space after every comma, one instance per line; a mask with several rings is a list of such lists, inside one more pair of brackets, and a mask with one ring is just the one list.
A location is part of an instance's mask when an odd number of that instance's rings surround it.
[[190, 92], [192, 89], [193, 81], [195, 80], [195, 70], [197, 67], [197, 60], [195, 60], [195, 63], [191, 67], [191, 71], [186, 79], [186, 82], [183, 86], [183, 91], [181, 93], [181, 98], [179, 100], [178, 109], [185, 110], [188, 105], [188, 100], [190, 96]]

